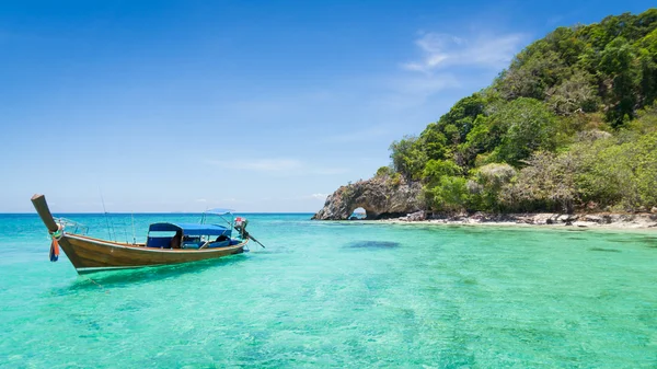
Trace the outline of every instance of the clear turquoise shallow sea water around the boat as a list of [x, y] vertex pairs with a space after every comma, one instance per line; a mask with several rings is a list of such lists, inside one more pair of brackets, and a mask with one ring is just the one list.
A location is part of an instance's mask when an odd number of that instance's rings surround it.
[[[657, 367], [655, 231], [309, 217], [247, 215], [267, 249], [91, 281], [48, 261], [36, 216], [0, 215], [0, 366]], [[159, 220], [199, 216], [137, 215], [137, 239]]]

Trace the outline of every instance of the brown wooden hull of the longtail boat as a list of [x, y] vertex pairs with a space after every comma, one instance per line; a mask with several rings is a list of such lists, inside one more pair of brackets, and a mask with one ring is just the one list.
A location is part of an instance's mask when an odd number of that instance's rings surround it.
[[170, 265], [217, 258], [244, 252], [249, 240], [216, 249], [155, 249], [65, 233], [59, 246], [78, 273]]

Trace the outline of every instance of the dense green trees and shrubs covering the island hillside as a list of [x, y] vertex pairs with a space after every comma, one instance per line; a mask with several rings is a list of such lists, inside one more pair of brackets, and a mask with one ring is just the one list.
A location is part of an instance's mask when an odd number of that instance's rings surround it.
[[657, 206], [657, 9], [558, 27], [377, 177], [420, 181], [431, 211], [641, 211]]

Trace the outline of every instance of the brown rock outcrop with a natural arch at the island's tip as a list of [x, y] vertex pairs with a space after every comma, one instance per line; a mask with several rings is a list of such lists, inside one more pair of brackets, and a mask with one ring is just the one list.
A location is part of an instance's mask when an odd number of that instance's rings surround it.
[[405, 216], [422, 210], [417, 182], [374, 177], [337, 188], [326, 198], [324, 207], [312, 219], [346, 220], [357, 208], [364, 208], [366, 219], [382, 219]]

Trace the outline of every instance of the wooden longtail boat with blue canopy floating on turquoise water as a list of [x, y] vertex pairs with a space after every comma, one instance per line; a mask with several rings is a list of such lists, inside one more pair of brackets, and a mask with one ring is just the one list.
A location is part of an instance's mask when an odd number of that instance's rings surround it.
[[[79, 274], [211, 260], [244, 252], [249, 240], [257, 242], [246, 232], [247, 221], [241, 217], [231, 217], [230, 228], [152, 223], [145, 243], [102, 240], [67, 229], [64, 220], [56, 221], [44, 195], [32, 196], [32, 204], [53, 239], [50, 261], [57, 261], [61, 247]], [[234, 238], [233, 230], [238, 233]]]

